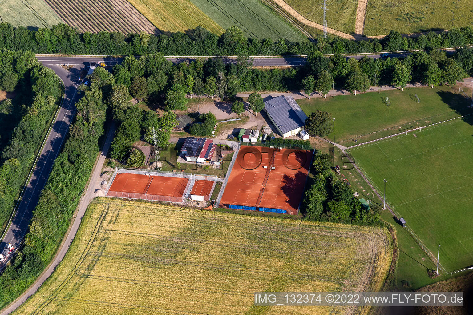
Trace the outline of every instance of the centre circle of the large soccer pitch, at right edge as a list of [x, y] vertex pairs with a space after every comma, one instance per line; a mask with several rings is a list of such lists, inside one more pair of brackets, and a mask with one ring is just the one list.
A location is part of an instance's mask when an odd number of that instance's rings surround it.
[[473, 198], [473, 179], [464, 175], [450, 175], [438, 181], [437, 191], [449, 200], [470, 200]]

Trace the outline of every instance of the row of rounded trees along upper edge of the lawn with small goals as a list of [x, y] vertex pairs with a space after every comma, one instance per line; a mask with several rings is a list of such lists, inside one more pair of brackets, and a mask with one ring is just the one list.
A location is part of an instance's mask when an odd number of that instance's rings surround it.
[[393, 85], [403, 89], [409, 82], [426, 85], [455, 85], [463, 81], [473, 66], [473, 48], [463, 47], [454, 54], [433, 49], [415, 51], [406, 57], [373, 59], [363, 56], [357, 60], [336, 54], [326, 58], [320, 51], [307, 57], [305, 73], [299, 74], [304, 92], [310, 96], [319, 92], [326, 97], [334, 86], [354, 93], [371, 86]]

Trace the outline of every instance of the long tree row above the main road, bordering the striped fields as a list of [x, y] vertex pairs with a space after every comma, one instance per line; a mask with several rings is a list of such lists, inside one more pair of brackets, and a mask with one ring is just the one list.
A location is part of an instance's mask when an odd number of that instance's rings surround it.
[[437, 34], [429, 32], [417, 38], [403, 37], [391, 31], [383, 39], [347, 40], [321, 35], [314, 42], [290, 42], [280, 38], [246, 38], [236, 26], [217, 35], [198, 26], [188, 34], [154, 35], [147, 33], [98, 32], [79, 33], [66, 24], [47, 28], [28, 29], [0, 23], [0, 48], [35, 53], [63, 53], [88, 55], [144, 55], [162, 52], [166, 56], [257, 56], [257, 55], [308, 55], [318, 50], [324, 54], [363, 53], [380, 51], [422, 50], [462, 47], [473, 44], [471, 26], [454, 28]]

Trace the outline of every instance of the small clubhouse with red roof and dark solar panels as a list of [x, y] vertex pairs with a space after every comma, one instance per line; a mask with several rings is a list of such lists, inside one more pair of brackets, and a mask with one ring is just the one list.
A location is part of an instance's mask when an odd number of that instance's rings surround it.
[[185, 138], [181, 154], [187, 162], [208, 163], [215, 153], [216, 144], [207, 138]]

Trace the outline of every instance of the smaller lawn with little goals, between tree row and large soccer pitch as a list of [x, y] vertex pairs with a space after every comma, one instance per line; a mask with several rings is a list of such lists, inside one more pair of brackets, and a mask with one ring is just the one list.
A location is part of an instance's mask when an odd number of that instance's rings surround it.
[[[330, 112], [335, 118], [335, 142], [350, 146], [356, 144], [352, 139], [361, 143], [461, 116], [471, 100], [457, 90], [448, 86], [416, 87], [410, 91], [404, 88], [403, 92], [389, 90], [297, 102], [307, 115], [315, 110]], [[415, 93], [420, 103], [414, 98]], [[389, 107], [383, 101], [386, 97], [391, 101]], [[333, 139], [333, 133], [326, 138]]]

